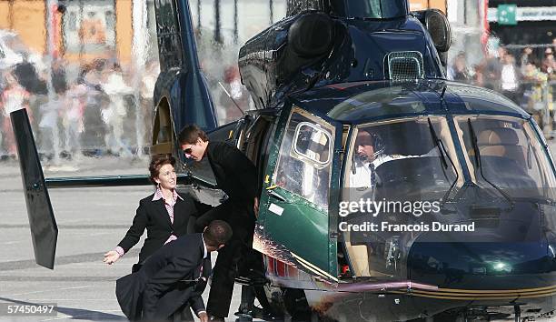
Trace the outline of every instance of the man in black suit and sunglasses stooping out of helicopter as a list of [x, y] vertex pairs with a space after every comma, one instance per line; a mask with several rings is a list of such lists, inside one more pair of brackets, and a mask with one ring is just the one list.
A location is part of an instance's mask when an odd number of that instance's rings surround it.
[[214, 219], [226, 221], [233, 229], [230, 242], [218, 253], [207, 310], [213, 321], [228, 316], [233, 294], [234, 267], [242, 260], [245, 247], [253, 243], [255, 213], [259, 192], [256, 167], [235, 146], [209, 142], [198, 126], [185, 126], [179, 136], [185, 157], [201, 161], [204, 156], [213, 169], [216, 184], [228, 196], [220, 206], [199, 216], [195, 227], [199, 231]]

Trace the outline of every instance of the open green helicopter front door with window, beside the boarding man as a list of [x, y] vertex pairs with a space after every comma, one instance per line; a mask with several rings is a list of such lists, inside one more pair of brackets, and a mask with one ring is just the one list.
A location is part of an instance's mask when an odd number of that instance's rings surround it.
[[[264, 254], [327, 280], [336, 280], [329, 240], [329, 199], [336, 129], [293, 107], [269, 148], [255, 245]], [[332, 250], [332, 251], [331, 251]]]

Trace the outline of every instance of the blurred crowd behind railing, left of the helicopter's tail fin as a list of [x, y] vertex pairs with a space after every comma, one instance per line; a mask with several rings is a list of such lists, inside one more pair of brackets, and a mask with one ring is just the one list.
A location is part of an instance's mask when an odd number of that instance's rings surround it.
[[[144, 66], [140, 88], [134, 87], [130, 68], [124, 70], [115, 59], [79, 65], [74, 77], [67, 75], [68, 66], [63, 59], [38, 65], [24, 56], [21, 62], [0, 69], [0, 157], [15, 157], [9, 113], [24, 107], [37, 150], [46, 162], [148, 154], [144, 146], [152, 126], [158, 62]], [[136, 126], [144, 126], [143, 137], [137, 137]]]

